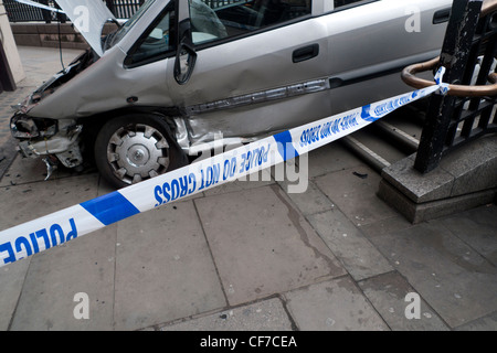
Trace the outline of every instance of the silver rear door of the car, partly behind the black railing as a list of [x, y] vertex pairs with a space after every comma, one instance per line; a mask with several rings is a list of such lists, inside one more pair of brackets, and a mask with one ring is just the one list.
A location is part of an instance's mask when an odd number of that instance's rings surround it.
[[335, 0], [325, 15], [332, 111], [412, 90], [400, 72], [440, 55], [451, 7], [451, 0]]

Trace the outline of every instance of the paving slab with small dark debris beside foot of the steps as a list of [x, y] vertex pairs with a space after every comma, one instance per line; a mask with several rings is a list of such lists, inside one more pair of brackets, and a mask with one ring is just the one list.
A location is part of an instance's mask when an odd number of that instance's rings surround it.
[[349, 220], [362, 226], [398, 214], [376, 195], [380, 180], [372, 169], [358, 165], [316, 178], [316, 185]]

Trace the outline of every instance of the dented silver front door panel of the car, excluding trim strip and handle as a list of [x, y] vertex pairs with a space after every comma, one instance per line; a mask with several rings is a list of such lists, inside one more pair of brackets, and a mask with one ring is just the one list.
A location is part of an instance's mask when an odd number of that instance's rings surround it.
[[[319, 54], [294, 63], [295, 50], [319, 45]], [[169, 67], [171, 96], [181, 107], [262, 93], [327, 77], [328, 39], [322, 18], [307, 19], [266, 32], [198, 51], [195, 68], [186, 85], [177, 85]], [[247, 105], [225, 111], [190, 115], [187, 118], [193, 143], [213, 133], [250, 137], [267, 133], [330, 111], [324, 95], [307, 94], [271, 103]]]

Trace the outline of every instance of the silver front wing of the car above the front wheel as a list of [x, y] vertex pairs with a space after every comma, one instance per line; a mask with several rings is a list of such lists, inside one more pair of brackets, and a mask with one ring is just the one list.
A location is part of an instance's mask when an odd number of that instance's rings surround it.
[[136, 105], [171, 107], [166, 73], [169, 60], [125, 69], [126, 54], [113, 47], [89, 69], [82, 72], [45, 97], [29, 113], [32, 117], [63, 119], [82, 118], [99, 113], [131, 107], [128, 97], [137, 97]]

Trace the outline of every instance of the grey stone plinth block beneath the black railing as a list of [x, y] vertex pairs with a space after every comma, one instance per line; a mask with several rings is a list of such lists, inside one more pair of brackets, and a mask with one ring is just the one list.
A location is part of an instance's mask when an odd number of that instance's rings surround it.
[[447, 154], [426, 174], [414, 170], [415, 154], [383, 169], [378, 196], [419, 223], [497, 200], [497, 135]]

